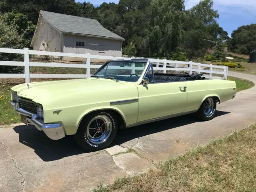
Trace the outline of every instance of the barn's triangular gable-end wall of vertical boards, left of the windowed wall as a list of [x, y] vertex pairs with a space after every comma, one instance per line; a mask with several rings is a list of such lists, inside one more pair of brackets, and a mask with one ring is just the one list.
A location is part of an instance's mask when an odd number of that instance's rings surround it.
[[33, 50], [44, 50], [42, 43], [49, 42], [49, 51], [61, 52], [60, 38], [61, 34], [54, 29], [44, 18], [41, 18], [40, 27], [35, 37]]

